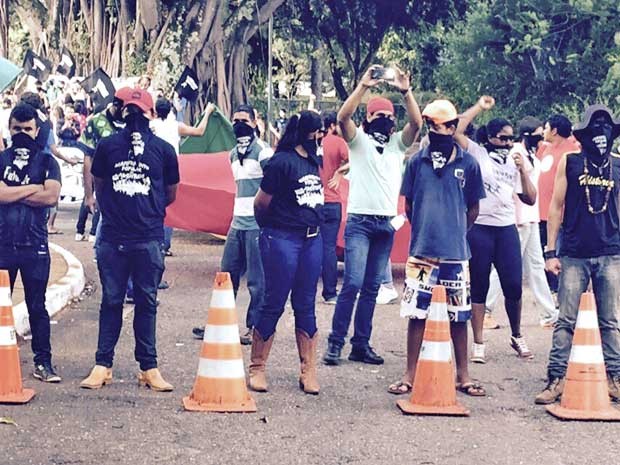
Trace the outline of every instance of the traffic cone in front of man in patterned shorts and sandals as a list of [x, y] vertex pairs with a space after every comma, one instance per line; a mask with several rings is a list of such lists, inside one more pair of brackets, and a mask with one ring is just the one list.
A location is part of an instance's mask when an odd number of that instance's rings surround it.
[[396, 404], [403, 413], [469, 415], [469, 410], [456, 401], [450, 321], [443, 286], [433, 289], [411, 398], [401, 399]]

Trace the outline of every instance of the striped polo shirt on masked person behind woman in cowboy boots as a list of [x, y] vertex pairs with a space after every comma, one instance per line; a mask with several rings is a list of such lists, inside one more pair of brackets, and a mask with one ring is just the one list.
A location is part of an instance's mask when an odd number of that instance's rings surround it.
[[254, 197], [263, 180], [263, 168], [273, 155], [273, 150], [260, 139], [248, 147], [243, 164], [239, 161], [237, 147], [230, 151], [233, 177], [237, 184], [232, 228], [248, 230], [258, 229], [254, 219]]

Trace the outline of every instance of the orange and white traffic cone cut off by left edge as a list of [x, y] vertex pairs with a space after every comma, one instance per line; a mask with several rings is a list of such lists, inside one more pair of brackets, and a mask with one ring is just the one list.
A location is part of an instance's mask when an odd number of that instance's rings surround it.
[[34, 390], [22, 386], [22, 369], [19, 365], [19, 349], [9, 273], [0, 270], [0, 403], [25, 404], [34, 397]]

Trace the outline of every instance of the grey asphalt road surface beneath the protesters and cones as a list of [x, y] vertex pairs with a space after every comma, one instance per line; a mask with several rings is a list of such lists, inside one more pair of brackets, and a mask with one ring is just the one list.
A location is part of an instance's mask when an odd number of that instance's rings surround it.
[[[551, 333], [536, 326], [528, 298], [525, 334], [536, 358], [517, 360], [504, 327], [487, 332], [489, 363], [473, 375], [487, 398], [459, 399], [470, 418], [403, 416], [396, 397], [386, 392], [404, 364], [405, 322], [398, 306], [377, 308], [373, 344], [386, 358], [371, 367], [346, 362], [319, 369], [321, 394], [297, 388], [298, 359], [293, 319], [287, 311], [268, 364], [271, 390], [254, 393], [256, 414], [196, 414], [181, 408], [196, 373], [200, 342], [192, 326], [204, 322], [209, 293], [222, 252], [221, 242], [204, 235], [178, 233], [175, 256], [168, 260], [171, 288], [160, 294], [158, 347], [163, 374], [176, 386], [168, 394], [139, 389], [133, 361], [131, 315], [117, 350], [115, 384], [100, 391], [78, 388], [93, 361], [100, 293], [87, 243], [72, 242], [77, 211], [60, 213], [65, 231], [58, 242], [83, 260], [94, 293], [64, 311], [53, 326], [54, 362], [64, 382], [44, 385], [29, 376], [31, 353], [21, 358], [28, 387], [37, 397], [26, 406], [0, 406], [17, 427], [0, 425], [0, 463], [8, 464], [583, 464], [615, 463], [620, 424], [566, 423], [535, 406], [543, 387]], [[396, 277], [402, 281], [402, 268]], [[248, 296], [241, 292], [239, 308]], [[317, 306], [322, 336], [333, 307]], [[504, 315], [498, 315], [506, 325]], [[324, 344], [321, 344], [321, 352]], [[347, 349], [348, 350], [348, 349]], [[248, 348], [244, 355], [249, 356]]]

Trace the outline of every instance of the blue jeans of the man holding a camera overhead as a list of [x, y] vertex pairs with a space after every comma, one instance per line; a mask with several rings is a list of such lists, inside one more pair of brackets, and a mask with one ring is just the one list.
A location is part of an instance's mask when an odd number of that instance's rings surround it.
[[344, 231], [344, 282], [332, 319], [329, 342], [344, 346], [359, 292], [351, 345], [369, 345], [379, 286], [394, 243], [390, 217], [349, 214]]

